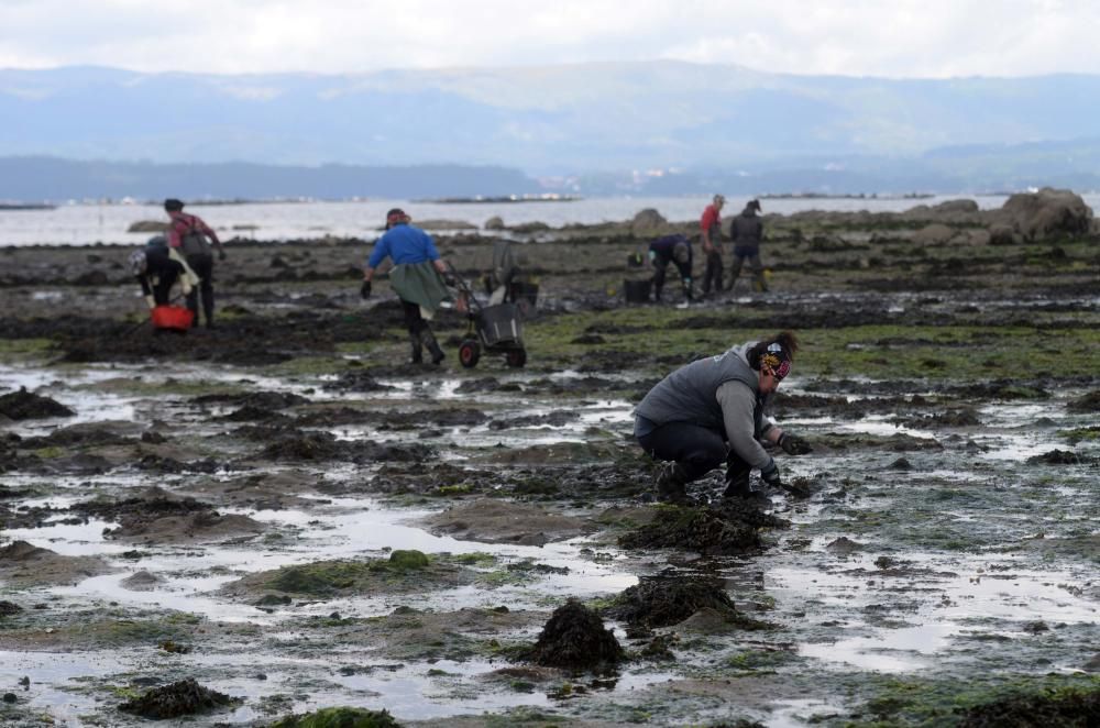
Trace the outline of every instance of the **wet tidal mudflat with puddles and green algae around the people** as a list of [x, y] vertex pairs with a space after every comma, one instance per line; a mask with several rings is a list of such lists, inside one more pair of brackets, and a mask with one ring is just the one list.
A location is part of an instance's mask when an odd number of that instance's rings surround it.
[[[405, 365], [351, 243], [230, 247], [184, 337], [128, 333], [122, 249], [21, 250], [0, 724], [1089, 725], [1100, 242], [768, 222], [772, 290], [688, 309], [623, 304], [641, 238], [525, 245], [522, 368], [459, 366], [453, 311], [443, 366]], [[653, 504], [632, 405], [784, 328], [806, 497]]]

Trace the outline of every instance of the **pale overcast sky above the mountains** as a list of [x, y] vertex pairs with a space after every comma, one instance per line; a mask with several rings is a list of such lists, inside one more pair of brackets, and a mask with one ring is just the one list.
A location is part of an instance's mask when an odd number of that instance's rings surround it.
[[1100, 73], [1089, 0], [0, 0], [0, 68], [361, 73], [674, 58], [946, 78]]

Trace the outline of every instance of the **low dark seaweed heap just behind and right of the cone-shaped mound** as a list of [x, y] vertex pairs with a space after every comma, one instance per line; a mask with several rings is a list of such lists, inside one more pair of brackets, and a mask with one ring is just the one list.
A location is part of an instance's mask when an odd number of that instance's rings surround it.
[[737, 611], [722, 580], [710, 576], [642, 576], [638, 584], [615, 597], [604, 614], [634, 626], [654, 628], [678, 625], [700, 609], [714, 609], [726, 621], [747, 629], [766, 627]]

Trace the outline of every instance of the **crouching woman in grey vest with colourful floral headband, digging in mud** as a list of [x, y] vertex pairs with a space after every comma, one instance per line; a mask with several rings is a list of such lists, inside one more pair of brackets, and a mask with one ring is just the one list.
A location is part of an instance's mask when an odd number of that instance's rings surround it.
[[[810, 445], [763, 416], [799, 350], [793, 333], [750, 341], [682, 366], [661, 379], [635, 409], [634, 434], [656, 460], [661, 500], [685, 503], [686, 485], [726, 463], [725, 497], [766, 499], [749, 472], [783, 487], [776, 461], [761, 442], [801, 455]], [[727, 445], [728, 443], [728, 445]]]

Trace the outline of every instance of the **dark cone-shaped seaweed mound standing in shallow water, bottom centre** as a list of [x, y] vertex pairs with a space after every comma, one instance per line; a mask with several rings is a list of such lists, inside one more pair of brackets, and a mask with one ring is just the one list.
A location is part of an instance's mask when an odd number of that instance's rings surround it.
[[600, 615], [569, 599], [554, 609], [529, 657], [547, 668], [592, 670], [618, 664], [625, 652]]

